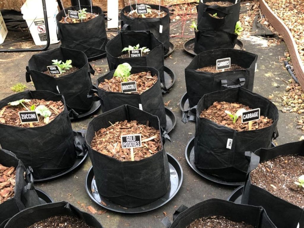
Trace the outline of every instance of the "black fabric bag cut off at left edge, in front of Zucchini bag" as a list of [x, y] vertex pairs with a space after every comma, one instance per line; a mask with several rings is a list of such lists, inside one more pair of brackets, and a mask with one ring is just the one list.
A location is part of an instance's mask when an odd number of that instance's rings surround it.
[[[10, 151], [0, 149], [0, 164], [16, 168], [15, 195], [0, 204], [0, 224], [27, 207], [40, 205], [39, 197], [33, 186], [31, 169], [26, 170], [22, 162]], [[23, 174], [26, 172], [26, 179]], [[31, 180], [32, 179], [32, 180]]]

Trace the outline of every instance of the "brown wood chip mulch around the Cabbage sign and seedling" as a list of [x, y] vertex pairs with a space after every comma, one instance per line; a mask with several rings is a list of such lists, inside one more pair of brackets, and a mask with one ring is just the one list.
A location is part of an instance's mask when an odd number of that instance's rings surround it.
[[[241, 117], [233, 123], [232, 118], [225, 113], [225, 111], [229, 111], [234, 116], [239, 109], [251, 110], [248, 106], [239, 103], [214, 102], [208, 109], [202, 111], [200, 117], [209, 119], [219, 125], [230, 127], [236, 131], [248, 131], [249, 123], [242, 123]], [[271, 126], [272, 123], [272, 119], [260, 116], [259, 120], [252, 121], [252, 130]]]

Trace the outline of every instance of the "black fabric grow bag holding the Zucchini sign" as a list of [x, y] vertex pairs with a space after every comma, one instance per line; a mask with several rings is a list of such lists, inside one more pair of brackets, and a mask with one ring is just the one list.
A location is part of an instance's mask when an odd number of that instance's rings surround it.
[[[0, 109], [7, 103], [25, 99], [62, 101], [62, 95], [36, 90], [11, 95], [0, 101]], [[10, 150], [34, 171], [35, 179], [43, 179], [71, 168], [76, 159], [74, 135], [65, 107], [50, 123], [40, 127], [17, 127], [0, 123], [0, 144]]]

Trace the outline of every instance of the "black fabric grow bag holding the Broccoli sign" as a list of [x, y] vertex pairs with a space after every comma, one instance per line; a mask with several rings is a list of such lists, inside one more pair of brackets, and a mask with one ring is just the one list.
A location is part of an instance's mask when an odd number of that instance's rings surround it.
[[[132, 67], [131, 74], [140, 73], [143, 71], [151, 71], [151, 75], [157, 75], [158, 79], [150, 89], [143, 92], [142, 94], [109, 92], [98, 88], [98, 95], [101, 98], [102, 112], [109, 111], [125, 104], [138, 108], [139, 104], [141, 104], [143, 111], [158, 116], [161, 127], [165, 128], [167, 121], [163, 96], [161, 94], [161, 81], [159, 78], [159, 72], [152, 67]], [[98, 78], [97, 85], [105, 81], [105, 79], [113, 78], [114, 72], [115, 71], [110, 71], [109, 73]]]

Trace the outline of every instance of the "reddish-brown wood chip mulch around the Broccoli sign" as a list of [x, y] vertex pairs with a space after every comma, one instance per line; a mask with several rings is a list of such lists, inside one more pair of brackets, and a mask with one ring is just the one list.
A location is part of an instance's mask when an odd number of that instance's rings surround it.
[[[151, 72], [140, 72], [131, 74], [128, 77], [128, 81], [136, 81], [136, 87], [138, 94], [142, 94], [146, 90], [150, 89], [157, 81], [157, 76], [151, 76]], [[122, 79], [120, 77], [113, 77], [111, 79], [105, 79], [105, 81], [99, 83], [98, 88], [105, 91], [122, 92], [121, 90]]]

